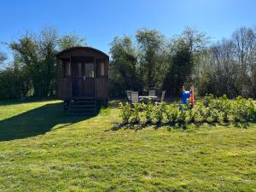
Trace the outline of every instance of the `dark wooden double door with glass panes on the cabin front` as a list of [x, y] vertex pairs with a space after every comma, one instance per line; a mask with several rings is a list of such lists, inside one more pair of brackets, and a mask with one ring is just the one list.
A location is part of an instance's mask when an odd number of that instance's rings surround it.
[[73, 61], [73, 96], [95, 96], [95, 64], [93, 61]]

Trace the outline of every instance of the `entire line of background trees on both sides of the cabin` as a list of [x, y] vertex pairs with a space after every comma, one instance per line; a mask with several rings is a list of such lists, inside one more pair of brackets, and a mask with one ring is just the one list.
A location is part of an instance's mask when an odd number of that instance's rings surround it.
[[[116, 37], [110, 44], [111, 97], [124, 96], [125, 90], [150, 89], [165, 89], [166, 95], [178, 96], [183, 85], [194, 85], [199, 96], [256, 98], [254, 28], [240, 27], [230, 38], [211, 45], [204, 32], [190, 27], [171, 38], [146, 28], [138, 29], [134, 37]], [[6, 55], [0, 53], [1, 99], [55, 95], [55, 54], [87, 42], [76, 34], [60, 35], [55, 27], [45, 27], [6, 44], [14, 61], [5, 61]], [[223, 110], [219, 117], [227, 121], [229, 111]]]

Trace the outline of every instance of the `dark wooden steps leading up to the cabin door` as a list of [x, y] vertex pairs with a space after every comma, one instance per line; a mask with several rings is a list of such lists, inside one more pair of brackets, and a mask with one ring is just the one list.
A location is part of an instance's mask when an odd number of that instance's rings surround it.
[[94, 115], [96, 112], [96, 98], [75, 98], [68, 108], [68, 115]]

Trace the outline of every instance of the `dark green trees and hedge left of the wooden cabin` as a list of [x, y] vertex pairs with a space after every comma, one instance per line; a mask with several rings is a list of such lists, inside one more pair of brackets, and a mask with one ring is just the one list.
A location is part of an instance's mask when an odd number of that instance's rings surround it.
[[[84, 38], [75, 34], [61, 36], [55, 27], [44, 27], [39, 34], [26, 32], [10, 42], [8, 45], [14, 53], [14, 61], [0, 72], [0, 98], [55, 95], [55, 54], [84, 44]], [[5, 56], [0, 54], [0, 64], [4, 59]]]

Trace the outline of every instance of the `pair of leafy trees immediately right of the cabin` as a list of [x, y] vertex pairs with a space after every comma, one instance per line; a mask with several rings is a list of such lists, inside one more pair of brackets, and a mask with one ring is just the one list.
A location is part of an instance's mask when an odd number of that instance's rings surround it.
[[166, 76], [168, 54], [165, 37], [156, 30], [139, 29], [136, 41], [129, 36], [114, 38], [110, 44], [110, 93], [125, 90], [160, 89]]

